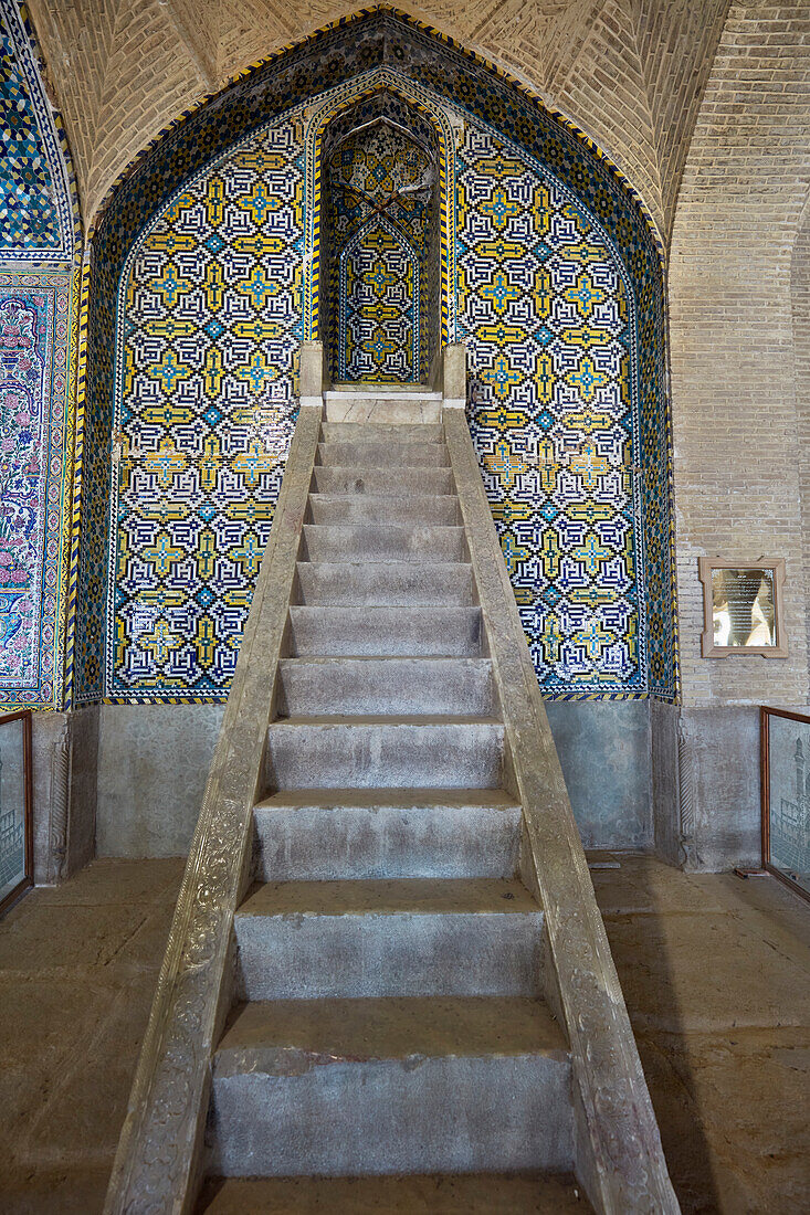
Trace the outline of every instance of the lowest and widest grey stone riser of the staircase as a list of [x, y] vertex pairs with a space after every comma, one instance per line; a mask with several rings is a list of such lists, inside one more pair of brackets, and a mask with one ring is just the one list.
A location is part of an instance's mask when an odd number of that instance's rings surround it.
[[570, 1168], [567, 1063], [544, 1056], [315, 1063], [270, 1080], [214, 1079], [214, 1171], [351, 1176]]

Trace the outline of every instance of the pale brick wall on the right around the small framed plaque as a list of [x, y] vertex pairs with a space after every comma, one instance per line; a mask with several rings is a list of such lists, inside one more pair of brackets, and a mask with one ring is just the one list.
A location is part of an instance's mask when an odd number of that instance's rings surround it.
[[[799, 4], [732, 6], [675, 215], [671, 367], [686, 705], [801, 703], [808, 694], [791, 292], [810, 158], [808, 33]], [[799, 261], [806, 265], [806, 250]], [[800, 266], [794, 272], [800, 277]], [[701, 659], [697, 558], [704, 553], [787, 559], [789, 660]]]

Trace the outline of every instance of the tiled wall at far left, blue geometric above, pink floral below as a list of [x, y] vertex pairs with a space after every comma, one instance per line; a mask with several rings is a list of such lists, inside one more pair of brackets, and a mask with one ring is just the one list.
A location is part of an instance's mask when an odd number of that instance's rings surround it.
[[78, 205], [23, 6], [0, 0], [0, 711], [63, 697]]

